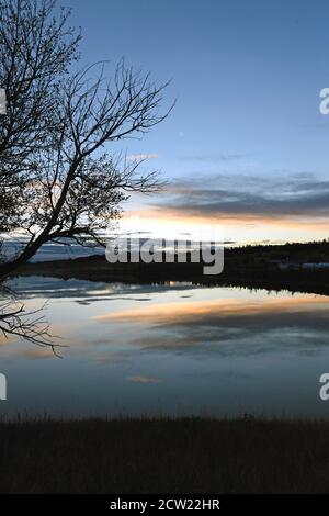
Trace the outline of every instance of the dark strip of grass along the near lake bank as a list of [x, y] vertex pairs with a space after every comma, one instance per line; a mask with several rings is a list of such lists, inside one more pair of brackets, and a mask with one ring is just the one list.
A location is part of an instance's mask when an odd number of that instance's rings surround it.
[[329, 493], [329, 422], [0, 424], [1, 493]]

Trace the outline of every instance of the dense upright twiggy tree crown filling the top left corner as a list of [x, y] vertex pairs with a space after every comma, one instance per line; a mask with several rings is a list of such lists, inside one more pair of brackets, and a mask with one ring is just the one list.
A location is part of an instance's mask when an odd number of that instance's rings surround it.
[[7, 96], [0, 125], [2, 231], [14, 227], [20, 189], [33, 177], [36, 153], [49, 146], [56, 96], [78, 58], [80, 34], [67, 26], [69, 11], [53, 18], [54, 10], [54, 0], [0, 1], [0, 88]]

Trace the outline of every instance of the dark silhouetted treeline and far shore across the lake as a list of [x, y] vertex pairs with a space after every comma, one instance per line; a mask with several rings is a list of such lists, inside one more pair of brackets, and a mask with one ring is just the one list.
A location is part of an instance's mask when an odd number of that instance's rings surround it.
[[225, 249], [224, 271], [205, 276], [204, 263], [109, 263], [104, 256], [72, 260], [27, 263], [18, 274], [47, 276], [89, 281], [162, 283], [190, 281], [204, 285], [235, 285], [248, 289], [291, 290], [329, 295], [329, 269], [284, 269], [275, 260], [287, 262], [329, 261], [329, 240], [306, 244], [257, 245]]

